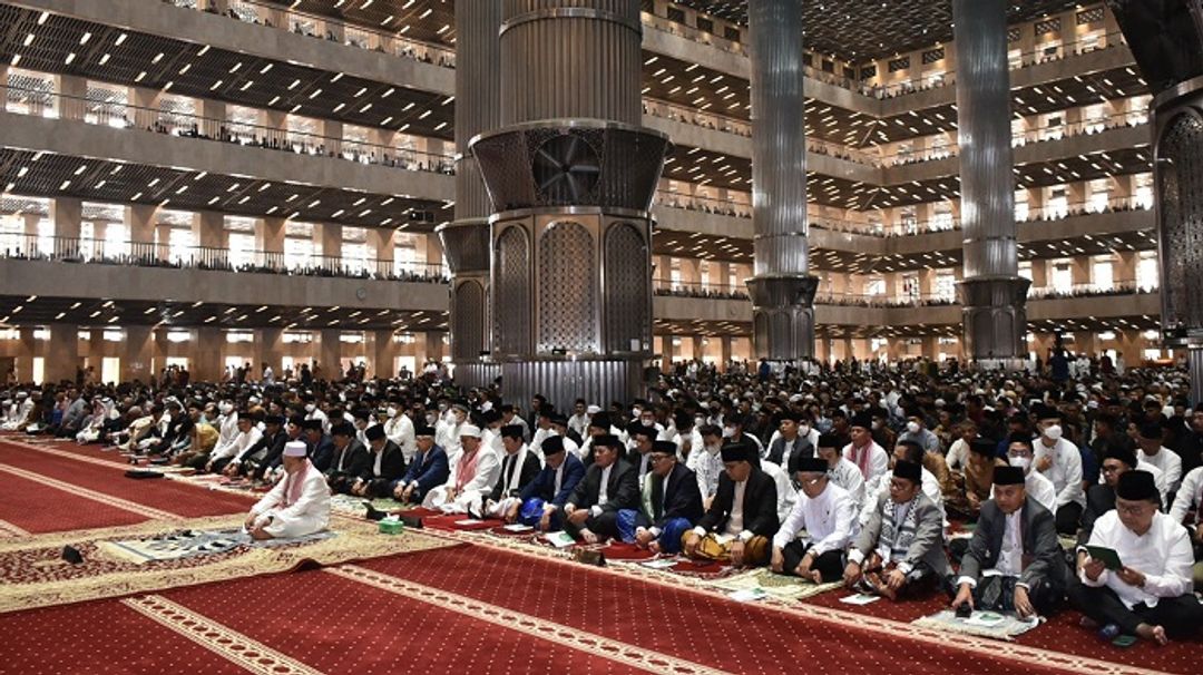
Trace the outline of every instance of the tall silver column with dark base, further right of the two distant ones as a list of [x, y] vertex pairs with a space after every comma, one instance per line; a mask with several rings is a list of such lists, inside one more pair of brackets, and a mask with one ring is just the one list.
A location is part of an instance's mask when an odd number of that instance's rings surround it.
[[961, 158], [965, 345], [984, 367], [1021, 367], [1030, 282], [1018, 274], [1007, 1], [953, 0]]

